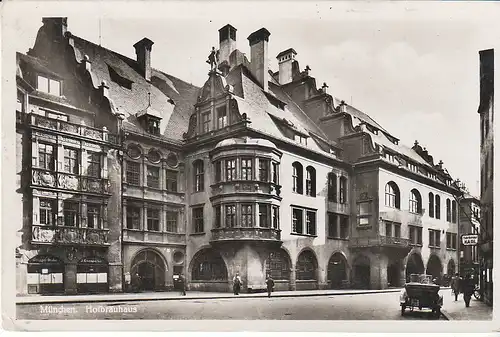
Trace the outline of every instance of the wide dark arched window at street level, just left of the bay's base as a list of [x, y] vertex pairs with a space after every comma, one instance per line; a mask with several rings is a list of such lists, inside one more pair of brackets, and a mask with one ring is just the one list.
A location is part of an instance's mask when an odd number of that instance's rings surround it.
[[194, 258], [191, 277], [193, 281], [226, 281], [226, 263], [218, 253], [203, 250]]

